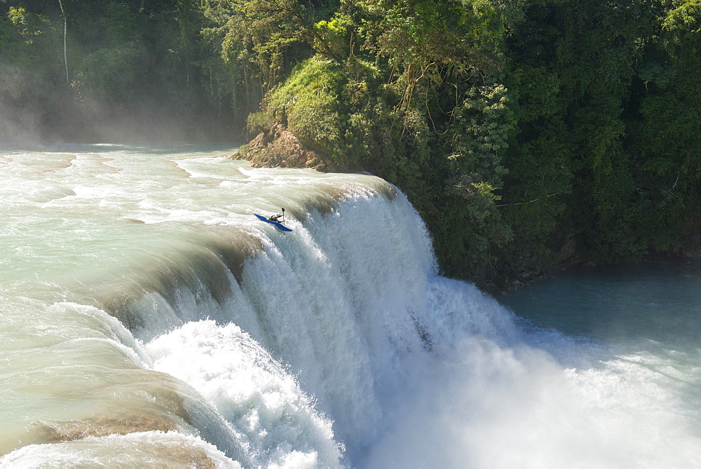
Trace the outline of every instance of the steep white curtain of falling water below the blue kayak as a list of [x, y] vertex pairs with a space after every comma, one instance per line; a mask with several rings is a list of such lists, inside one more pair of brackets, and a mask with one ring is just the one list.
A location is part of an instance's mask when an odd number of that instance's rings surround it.
[[[292, 458], [280, 448], [290, 438], [313, 453], [311, 465], [338, 463], [339, 447], [359, 461], [421, 386], [418, 370], [447, 360], [455, 337], [516, 334], [494, 300], [437, 276], [428, 233], [400, 193], [362, 192], [292, 226], [268, 233], [236, 273], [221, 248], [172, 255], [159, 269], [170, 280], [121, 312], [154, 369], [249, 428], [247, 447], [268, 454], [262, 465]], [[209, 286], [221, 278], [228, 285]]]

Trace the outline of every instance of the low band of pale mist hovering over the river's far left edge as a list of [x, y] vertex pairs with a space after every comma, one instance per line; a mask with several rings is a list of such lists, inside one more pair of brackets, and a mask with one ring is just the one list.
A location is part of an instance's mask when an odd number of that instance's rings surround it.
[[168, 96], [140, 92], [130, 102], [77, 96], [67, 83], [41, 73], [0, 69], [0, 141], [40, 142], [238, 142], [231, 112], [188, 111]]

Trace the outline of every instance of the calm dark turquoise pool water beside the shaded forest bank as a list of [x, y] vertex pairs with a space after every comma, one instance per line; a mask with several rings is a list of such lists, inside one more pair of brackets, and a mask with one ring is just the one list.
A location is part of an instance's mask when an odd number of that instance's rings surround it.
[[701, 276], [690, 266], [575, 269], [500, 301], [536, 327], [604, 344], [701, 346]]

